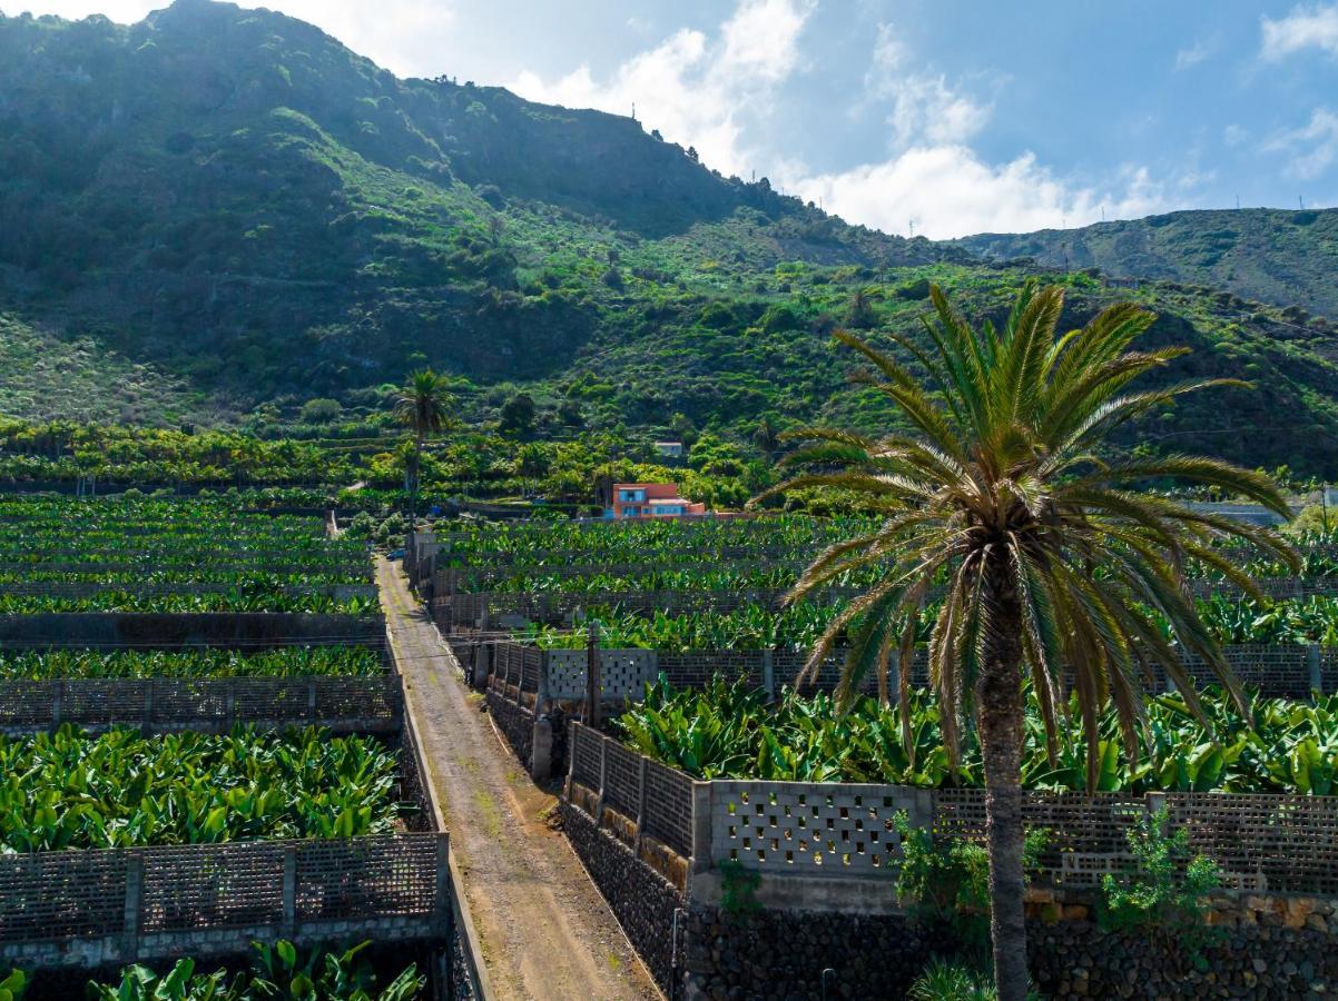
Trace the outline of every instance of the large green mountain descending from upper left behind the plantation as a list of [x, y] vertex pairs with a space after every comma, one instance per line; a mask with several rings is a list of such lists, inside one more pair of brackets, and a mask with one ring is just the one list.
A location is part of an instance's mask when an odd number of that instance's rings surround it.
[[292, 421], [328, 397], [365, 418], [431, 364], [476, 424], [526, 394], [541, 437], [874, 424], [834, 327], [914, 335], [930, 281], [1001, 317], [1040, 278], [1070, 286], [1070, 322], [1156, 310], [1151, 339], [1196, 349], [1167, 378], [1262, 386], [1129, 444], [1338, 470], [1333, 331], [1294, 309], [848, 226], [632, 119], [399, 80], [209, 0], [0, 17], [0, 412], [21, 417]]

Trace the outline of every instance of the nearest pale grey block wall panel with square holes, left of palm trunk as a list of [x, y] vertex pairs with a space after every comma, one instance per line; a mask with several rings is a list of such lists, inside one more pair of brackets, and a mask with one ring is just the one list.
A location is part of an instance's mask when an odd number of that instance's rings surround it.
[[900, 839], [892, 817], [927, 821], [927, 791], [903, 786], [712, 782], [716, 861], [803, 875], [895, 873]]

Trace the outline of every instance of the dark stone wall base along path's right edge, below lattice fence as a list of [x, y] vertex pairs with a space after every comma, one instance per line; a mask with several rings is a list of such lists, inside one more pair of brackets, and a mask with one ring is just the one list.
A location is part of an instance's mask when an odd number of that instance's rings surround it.
[[585, 811], [565, 798], [559, 803], [562, 830], [577, 857], [656, 982], [673, 997], [673, 915], [684, 906], [682, 895], [632, 849], [598, 830]]

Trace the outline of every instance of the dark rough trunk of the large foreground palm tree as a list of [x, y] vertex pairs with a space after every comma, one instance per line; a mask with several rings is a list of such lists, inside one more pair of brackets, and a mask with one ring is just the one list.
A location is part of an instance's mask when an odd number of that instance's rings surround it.
[[977, 730], [985, 764], [990, 854], [990, 938], [999, 1001], [1026, 1001], [1026, 921], [1022, 906], [1022, 611], [1009, 568], [993, 575], [997, 637], [975, 683]]

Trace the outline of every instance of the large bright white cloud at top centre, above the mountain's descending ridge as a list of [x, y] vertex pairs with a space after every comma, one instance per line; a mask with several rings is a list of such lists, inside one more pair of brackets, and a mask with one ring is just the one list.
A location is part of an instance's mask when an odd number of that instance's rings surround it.
[[799, 37], [811, 0], [741, 0], [716, 37], [682, 28], [595, 80], [587, 65], [546, 82], [522, 74], [511, 90], [530, 100], [630, 114], [669, 142], [694, 146], [725, 174], [756, 163], [744, 126], [773, 110], [776, 87], [800, 68]]

